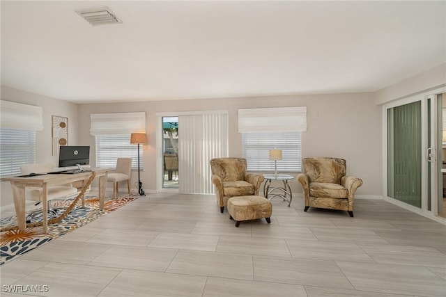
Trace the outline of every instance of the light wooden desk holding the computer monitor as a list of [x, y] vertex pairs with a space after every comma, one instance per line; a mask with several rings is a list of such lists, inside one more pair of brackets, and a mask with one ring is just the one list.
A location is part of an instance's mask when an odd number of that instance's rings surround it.
[[[105, 188], [107, 186], [107, 173], [112, 170], [109, 168], [91, 168], [91, 171], [96, 172], [96, 178], [99, 178], [99, 207], [100, 210], [104, 208]], [[35, 177], [2, 177], [1, 182], [10, 182], [13, 188], [13, 198], [15, 214], [17, 215], [17, 225], [19, 230], [25, 230], [26, 228], [26, 211], [25, 211], [25, 187], [35, 186], [43, 189], [42, 193], [42, 206], [43, 206], [43, 233], [47, 232], [48, 226], [48, 186], [56, 186], [58, 184], [68, 184], [71, 182], [79, 182], [84, 179], [88, 179], [91, 172], [81, 172], [74, 175], [67, 175], [63, 173], [59, 174], [47, 174], [38, 175]]]

